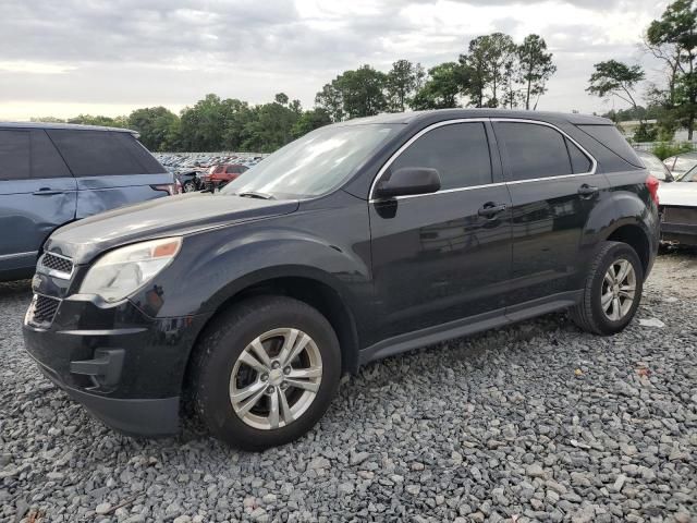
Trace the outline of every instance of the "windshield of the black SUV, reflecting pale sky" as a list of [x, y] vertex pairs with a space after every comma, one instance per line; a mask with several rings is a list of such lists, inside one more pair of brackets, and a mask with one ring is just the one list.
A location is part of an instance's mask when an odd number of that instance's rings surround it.
[[254, 193], [274, 198], [319, 196], [339, 187], [401, 124], [322, 127], [260, 161], [220, 194]]

